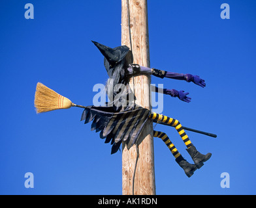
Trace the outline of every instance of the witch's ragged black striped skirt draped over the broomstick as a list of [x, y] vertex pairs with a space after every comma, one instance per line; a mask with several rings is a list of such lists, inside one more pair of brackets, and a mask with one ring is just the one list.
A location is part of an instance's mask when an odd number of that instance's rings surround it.
[[136, 143], [146, 121], [150, 110], [139, 106], [127, 107], [95, 107], [89, 106], [84, 109], [81, 121], [91, 123], [91, 131], [101, 131], [100, 137], [105, 138], [105, 143], [111, 141], [112, 151], [116, 153], [121, 142], [127, 144], [130, 149]]

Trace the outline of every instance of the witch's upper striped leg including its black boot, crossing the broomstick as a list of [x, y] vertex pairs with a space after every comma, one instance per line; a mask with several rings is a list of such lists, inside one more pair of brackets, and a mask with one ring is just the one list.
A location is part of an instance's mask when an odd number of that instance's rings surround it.
[[203, 155], [197, 149], [193, 144], [191, 143], [191, 140], [189, 140], [189, 136], [185, 133], [184, 129], [182, 128], [182, 125], [180, 122], [174, 118], [170, 118], [168, 116], [163, 116], [161, 114], [157, 114], [153, 112], [150, 114], [150, 118], [152, 118], [153, 122], [158, 122], [158, 123], [165, 123], [167, 125], [170, 125], [172, 127], [175, 127], [175, 129], [178, 131], [180, 137], [182, 137], [182, 140], [185, 143], [185, 146], [187, 146], [187, 152], [195, 162], [195, 165], [197, 168], [200, 168], [204, 165], [203, 162], [208, 161], [210, 157], [212, 156], [212, 153], [207, 153], [206, 155]]

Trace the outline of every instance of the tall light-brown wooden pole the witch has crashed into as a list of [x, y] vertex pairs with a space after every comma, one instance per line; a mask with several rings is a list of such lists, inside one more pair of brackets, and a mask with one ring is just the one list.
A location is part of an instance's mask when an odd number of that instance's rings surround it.
[[[121, 0], [121, 45], [132, 48], [133, 63], [150, 67], [147, 0]], [[138, 75], [130, 80], [131, 88], [135, 86], [133, 90], [136, 104], [151, 110], [150, 83], [150, 75]], [[146, 123], [138, 138], [138, 144], [140, 156], [136, 165], [134, 194], [153, 195], [155, 194], [155, 168], [152, 121], [148, 120]], [[124, 195], [133, 194], [136, 155], [136, 146], [129, 151], [126, 146], [123, 146], [122, 190]]]

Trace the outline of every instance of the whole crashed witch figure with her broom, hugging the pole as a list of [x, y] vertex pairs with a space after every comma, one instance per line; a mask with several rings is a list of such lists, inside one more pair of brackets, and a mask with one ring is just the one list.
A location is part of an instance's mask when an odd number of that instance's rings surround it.
[[[183, 127], [178, 120], [140, 107], [135, 102], [131, 103], [129, 99], [127, 99], [127, 105], [115, 105], [115, 103], [119, 102], [119, 98], [123, 98], [125, 96], [128, 98], [131, 96], [131, 94], [133, 94], [131, 88], [129, 87], [129, 78], [141, 73], [154, 75], [162, 79], [167, 77], [170, 79], [185, 80], [188, 83], [193, 82], [201, 87], [206, 86], [204, 80], [197, 75], [191, 75], [189, 73], [183, 74], [167, 72], [165, 70], [147, 68], [138, 64], [129, 64], [126, 59], [127, 54], [129, 53], [129, 47], [125, 45], [111, 48], [106, 45], [99, 44], [98, 42], [93, 42], [93, 44], [97, 46], [99, 51], [101, 51], [104, 56], [104, 67], [106, 68], [106, 72], [109, 76], [106, 83], [106, 92], [108, 94], [108, 98], [117, 99], [110, 99], [110, 102], [106, 103], [105, 106], [91, 105], [85, 107], [72, 103], [68, 98], [57, 94], [57, 92], [54, 92], [54, 90], [42, 85], [42, 83], [38, 83], [35, 93], [35, 107], [37, 112], [39, 113], [56, 109], [68, 109], [70, 107], [83, 108], [84, 111], [82, 112], [81, 121], [84, 121], [84, 123], [92, 122], [91, 130], [95, 130], [96, 132], [100, 131], [100, 138], [105, 138], [105, 143], [110, 142], [110, 144], [112, 144], [112, 154], [116, 153], [116, 151], [120, 149], [120, 145], [122, 143], [123, 145], [127, 146], [127, 149], [130, 149], [133, 145], [135, 145], [138, 140], [138, 136], [142, 132], [142, 129], [144, 128], [148, 119], [152, 119], [155, 123], [170, 125], [178, 131], [178, 134], [184, 141], [185, 146], [187, 147], [186, 150], [193, 159], [194, 164], [190, 164], [184, 159], [184, 157], [182, 157], [166, 133], [161, 131], [153, 131], [153, 136], [161, 138], [163, 142], [165, 142], [168, 149], [170, 149], [172, 155], [174, 156], [175, 161], [180, 165], [181, 168], [183, 168], [187, 177], [191, 177], [195, 170], [201, 168], [204, 162], [210, 159], [212, 153], [207, 153], [206, 155], [200, 153], [191, 143], [191, 140], [185, 133], [184, 129], [196, 131], [198, 133], [204, 132]], [[125, 90], [121, 90], [121, 92], [114, 91], [114, 86], [118, 84], [126, 86]], [[188, 93], [184, 92], [183, 90], [169, 90], [166, 88], [160, 90], [159, 88], [155, 87], [155, 92], [160, 91], [163, 92], [163, 94], [170, 95], [174, 98], [177, 97], [187, 103], [189, 103], [191, 99], [187, 97]], [[204, 134], [216, 137], [216, 135], [212, 135], [210, 133]]]

